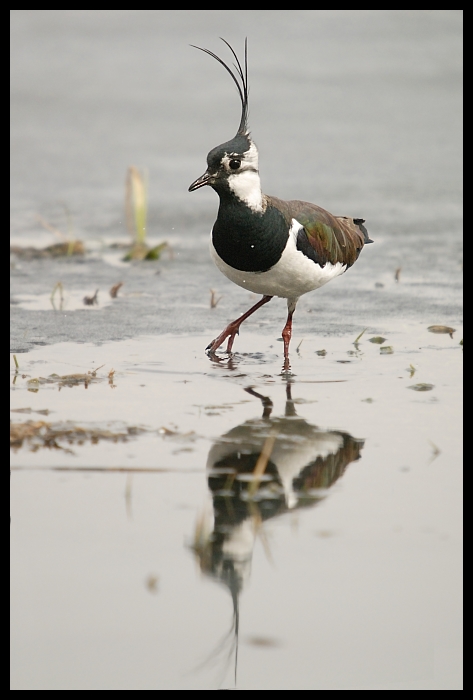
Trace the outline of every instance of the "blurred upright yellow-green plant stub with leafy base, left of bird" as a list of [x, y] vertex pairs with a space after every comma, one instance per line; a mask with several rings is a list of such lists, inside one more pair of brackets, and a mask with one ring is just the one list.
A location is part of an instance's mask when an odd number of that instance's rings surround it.
[[157, 260], [167, 243], [154, 248], [146, 245], [146, 222], [148, 218], [148, 172], [140, 173], [131, 165], [128, 168], [125, 191], [126, 222], [133, 238], [131, 250], [124, 260]]

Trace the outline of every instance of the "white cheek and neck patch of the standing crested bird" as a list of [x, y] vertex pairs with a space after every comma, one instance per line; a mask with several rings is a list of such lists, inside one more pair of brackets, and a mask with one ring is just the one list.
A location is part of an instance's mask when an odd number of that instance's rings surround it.
[[[232, 168], [235, 161], [240, 166]], [[243, 154], [228, 153], [222, 158], [222, 165], [229, 173], [228, 186], [234, 194], [245, 202], [253, 211], [263, 211], [263, 195], [258, 173], [258, 150], [254, 143]]]

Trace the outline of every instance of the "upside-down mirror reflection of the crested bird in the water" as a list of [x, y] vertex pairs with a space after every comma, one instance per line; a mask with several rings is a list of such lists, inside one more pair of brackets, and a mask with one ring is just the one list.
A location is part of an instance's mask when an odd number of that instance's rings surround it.
[[[196, 526], [194, 551], [203, 573], [224, 584], [233, 601], [231, 629], [203, 664], [238, 660], [239, 595], [249, 578], [253, 548], [264, 521], [316, 505], [360, 457], [364, 441], [338, 430], [322, 430], [296, 414], [291, 384], [284, 416], [263, 415], [236, 426], [211, 447], [207, 460], [209, 507]], [[222, 658], [223, 657], [223, 658]]]

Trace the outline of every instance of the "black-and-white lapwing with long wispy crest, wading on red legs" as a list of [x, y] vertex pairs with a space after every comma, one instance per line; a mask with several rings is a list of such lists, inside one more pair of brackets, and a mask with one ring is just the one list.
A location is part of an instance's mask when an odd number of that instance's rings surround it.
[[206, 352], [216, 358], [216, 350], [227, 340], [226, 352], [231, 354], [241, 324], [273, 297], [281, 297], [288, 310], [282, 331], [286, 373], [291, 371], [289, 344], [299, 298], [346, 272], [372, 240], [362, 218], [334, 216], [310, 202], [263, 194], [258, 149], [248, 126], [248, 41], [242, 66], [229, 42], [221, 40], [235, 60], [233, 67], [213, 51], [191, 46], [214, 58], [231, 76], [241, 101], [240, 124], [232, 139], [208, 153], [207, 169], [189, 192], [208, 185], [218, 194], [211, 257], [228, 279], [262, 298], [229, 323]]

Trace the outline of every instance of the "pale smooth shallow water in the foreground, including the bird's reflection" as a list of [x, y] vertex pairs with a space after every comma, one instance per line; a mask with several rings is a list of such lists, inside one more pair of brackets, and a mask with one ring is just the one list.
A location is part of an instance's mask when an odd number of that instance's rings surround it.
[[[458, 683], [458, 342], [420, 326], [389, 334], [389, 355], [305, 339], [287, 402], [282, 344], [245, 340], [258, 351], [230, 367], [200, 336], [19, 356], [12, 405], [31, 413], [14, 421], [133, 430], [12, 455], [18, 685], [231, 687], [235, 590], [239, 688]], [[100, 365], [87, 389], [67, 385]], [[31, 383], [54, 375], [66, 384]], [[262, 481], [248, 501], [228, 475], [248, 473], [272, 431], [272, 490]]]

